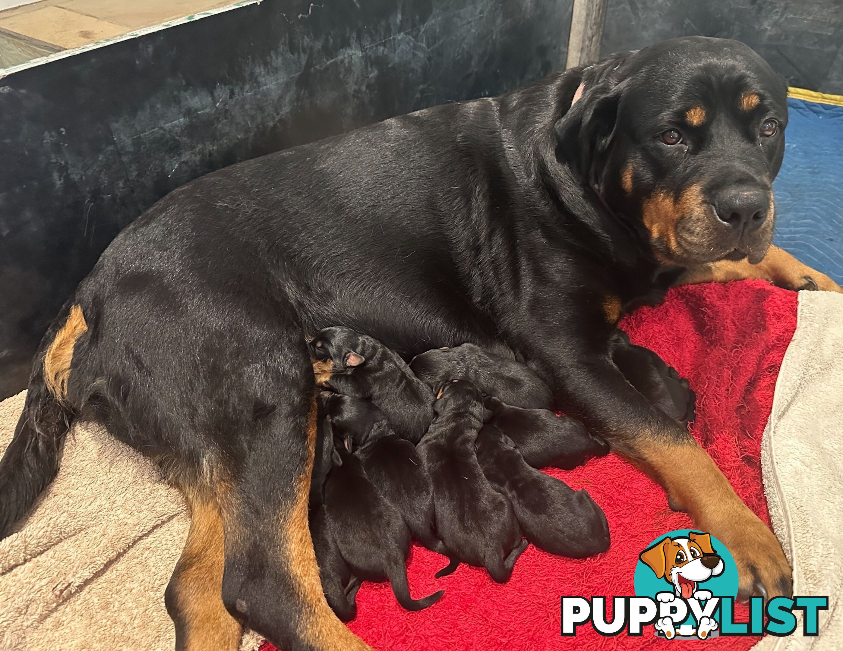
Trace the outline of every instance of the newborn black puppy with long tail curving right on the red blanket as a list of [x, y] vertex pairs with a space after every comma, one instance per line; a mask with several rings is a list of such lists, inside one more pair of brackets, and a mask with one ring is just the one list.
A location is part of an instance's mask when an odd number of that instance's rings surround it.
[[419, 600], [410, 596], [404, 565], [410, 554], [410, 531], [401, 514], [374, 488], [357, 456], [341, 441], [335, 449], [341, 463], [331, 468], [325, 482], [325, 515], [342, 559], [358, 579], [389, 579], [395, 598], [408, 611], [436, 603], [444, 590]]

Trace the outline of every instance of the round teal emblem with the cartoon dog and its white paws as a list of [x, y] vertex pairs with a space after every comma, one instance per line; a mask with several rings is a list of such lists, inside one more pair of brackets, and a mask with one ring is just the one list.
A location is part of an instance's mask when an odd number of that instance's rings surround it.
[[720, 607], [712, 597], [738, 596], [738, 566], [726, 546], [707, 532], [668, 531], [639, 554], [635, 594], [657, 601], [656, 635], [715, 638]]

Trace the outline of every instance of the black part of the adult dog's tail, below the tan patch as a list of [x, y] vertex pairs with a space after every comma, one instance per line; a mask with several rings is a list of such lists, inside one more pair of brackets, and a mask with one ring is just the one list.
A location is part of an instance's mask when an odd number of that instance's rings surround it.
[[47, 391], [43, 377], [33, 377], [12, 442], [0, 460], [0, 540], [56, 477], [71, 416]]

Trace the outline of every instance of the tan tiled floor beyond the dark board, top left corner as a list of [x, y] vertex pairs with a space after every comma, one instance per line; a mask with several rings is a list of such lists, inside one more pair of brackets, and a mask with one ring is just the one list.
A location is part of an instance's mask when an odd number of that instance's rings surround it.
[[235, 0], [41, 0], [0, 11], [0, 68]]

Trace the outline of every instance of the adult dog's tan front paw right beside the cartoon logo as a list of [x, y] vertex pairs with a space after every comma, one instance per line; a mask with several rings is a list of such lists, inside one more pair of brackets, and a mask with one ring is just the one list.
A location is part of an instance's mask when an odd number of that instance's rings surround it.
[[791, 596], [791, 568], [776, 536], [744, 504], [741, 507], [736, 515], [709, 528], [738, 565], [738, 598]]

